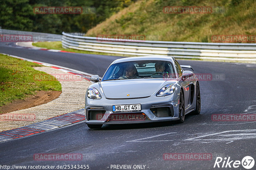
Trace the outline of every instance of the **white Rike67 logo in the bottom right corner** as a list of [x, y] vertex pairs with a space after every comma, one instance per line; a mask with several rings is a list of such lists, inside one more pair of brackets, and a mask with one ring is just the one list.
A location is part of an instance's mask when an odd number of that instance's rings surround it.
[[[230, 157], [225, 157], [222, 159], [221, 157], [217, 157], [214, 163], [214, 168], [238, 168], [243, 166], [245, 169], [251, 169], [254, 166], [254, 159], [251, 156], [245, 156], [242, 161], [240, 160], [231, 160]], [[239, 168], [241, 169], [241, 167]]]

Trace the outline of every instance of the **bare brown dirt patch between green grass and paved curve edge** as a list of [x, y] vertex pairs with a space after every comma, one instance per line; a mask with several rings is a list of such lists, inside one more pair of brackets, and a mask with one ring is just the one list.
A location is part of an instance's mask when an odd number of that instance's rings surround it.
[[15, 100], [4, 106], [0, 106], [0, 114], [9, 113], [16, 110], [27, 109], [44, 103], [51, 102], [58, 98], [61, 91], [37, 91], [36, 95], [27, 97], [24, 100]]

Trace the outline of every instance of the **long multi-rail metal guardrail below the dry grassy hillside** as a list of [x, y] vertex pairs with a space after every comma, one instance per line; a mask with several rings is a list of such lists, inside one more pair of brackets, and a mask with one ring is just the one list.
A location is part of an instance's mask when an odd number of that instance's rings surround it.
[[256, 61], [256, 44], [246, 43], [201, 43], [172, 41], [100, 40], [84, 37], [84, 34], [62, 32], [62, 46], [77, 50], [123, 54], [164, 55], [175, 58]]

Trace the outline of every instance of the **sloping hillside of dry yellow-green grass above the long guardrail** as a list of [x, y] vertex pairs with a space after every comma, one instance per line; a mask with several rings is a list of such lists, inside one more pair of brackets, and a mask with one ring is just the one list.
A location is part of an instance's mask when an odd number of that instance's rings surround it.
[[[219, 6], [225, 12], [166, 14], [164, 6]], [[85, 36], [135, 34], [147, 40], [212, 42], [212, 35], [255, 35], [255, 6], [255, 0], [139, 0]]]

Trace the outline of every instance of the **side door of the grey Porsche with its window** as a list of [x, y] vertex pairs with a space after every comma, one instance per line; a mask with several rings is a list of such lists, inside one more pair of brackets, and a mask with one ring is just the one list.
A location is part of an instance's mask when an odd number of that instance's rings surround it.
[[178, 61], [174, 60], [174, 64], [181, 82], [181, 85], [184, 87], [184, 103], [185, 103], [185, 109], [189, 106], [190, 104], [190, 81], [182, 80], [182, 68], [180, 67], [180, 64]]

